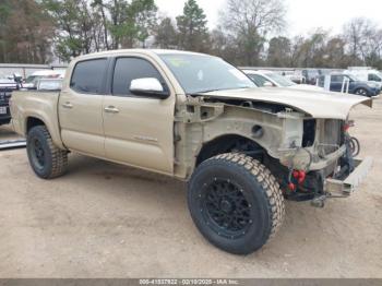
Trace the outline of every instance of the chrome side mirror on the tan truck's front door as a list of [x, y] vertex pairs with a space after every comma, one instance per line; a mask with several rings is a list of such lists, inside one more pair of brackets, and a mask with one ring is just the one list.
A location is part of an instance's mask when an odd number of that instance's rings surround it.
[[132, 80], [130, 92], [134, 95], [153, 96], [159, 99], [166, 99], [170, 95], [169, 92], [164, 90], [160, 82], [154, 78]]

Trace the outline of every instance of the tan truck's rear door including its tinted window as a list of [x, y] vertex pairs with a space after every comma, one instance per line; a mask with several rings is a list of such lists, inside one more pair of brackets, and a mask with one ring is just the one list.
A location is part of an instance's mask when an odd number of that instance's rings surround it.
[[58, 107], [63, 144], [99, 157], [105, 156], [102, 108], [107, 62], [106, 58], [77, 62]]

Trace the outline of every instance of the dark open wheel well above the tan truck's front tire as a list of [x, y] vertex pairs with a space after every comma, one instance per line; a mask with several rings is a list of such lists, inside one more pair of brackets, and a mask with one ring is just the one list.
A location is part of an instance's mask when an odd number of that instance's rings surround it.
[[216, 155], [240, 152], [262, 160], [265, 150], [256, 142], [240, 135], [224, 135], [205, 143], [196, 157], [196, 166]]

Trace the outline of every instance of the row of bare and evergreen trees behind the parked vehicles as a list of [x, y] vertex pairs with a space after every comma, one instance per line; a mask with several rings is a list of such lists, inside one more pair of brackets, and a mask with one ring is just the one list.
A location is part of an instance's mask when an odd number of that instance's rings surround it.
[[338, 35], [317, 28], [288, 38], [284, 0], [226, 0], [219, 24], [208, 29], [196, 0], [176, 19], [155, 0], [2, 0], [0, 61], [49, 63], [120, 48], [206, 52], [237, 65], [382, 69], [382, 28], [353, 19]]

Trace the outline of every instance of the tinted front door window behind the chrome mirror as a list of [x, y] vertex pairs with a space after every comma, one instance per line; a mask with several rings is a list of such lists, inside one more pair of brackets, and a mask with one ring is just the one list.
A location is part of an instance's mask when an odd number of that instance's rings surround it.
[[146, 78], [157, 79], [164, 90], [168, 90], [158, 70], [147, 60], [140, 58], [118, 58], [112, 78], [112, 95], [134, 96], [130, 92], [131, 81]]

